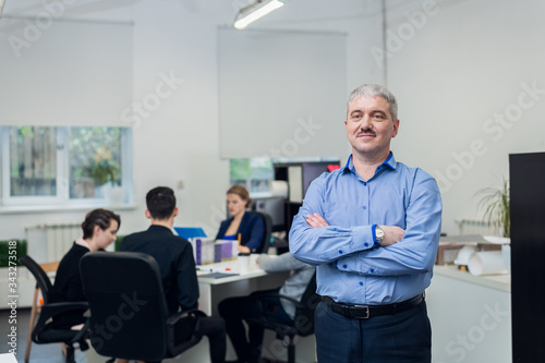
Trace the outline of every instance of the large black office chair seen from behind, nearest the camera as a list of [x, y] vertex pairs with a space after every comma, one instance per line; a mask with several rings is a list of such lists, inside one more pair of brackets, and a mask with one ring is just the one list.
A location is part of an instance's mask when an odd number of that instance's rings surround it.
[[98, 354], [158, 362], [202, 338], [199, 311], [168, 316], [155, 258], [135, 252], [90, 252], [80, 262], [90, 310], [90, 343]]

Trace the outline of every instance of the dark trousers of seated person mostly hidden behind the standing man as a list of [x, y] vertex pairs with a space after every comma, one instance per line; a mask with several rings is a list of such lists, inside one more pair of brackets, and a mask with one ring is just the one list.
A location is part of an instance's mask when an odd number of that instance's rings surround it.
[[278, 289], [256, 291], [249, 297], [229, 298], [218, 305], [219, 315], [226, 319], [227, 334], [240, 362], [257, 362], [264, 336], [262, 326], [247, 324], [246, 339], [246, 329], [242, 320], [265, 317], [269, 322], [280, 324], [293, 323], [280, 300], [277, 297], [264, 297], [267, 293], [278, 293]]

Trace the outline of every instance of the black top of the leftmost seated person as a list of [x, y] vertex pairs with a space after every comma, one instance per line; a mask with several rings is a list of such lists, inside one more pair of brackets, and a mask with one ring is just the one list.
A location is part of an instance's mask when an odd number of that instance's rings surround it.
[[[87, 247], [74, 242], [72, 249], [62, 257], [55, 277], [51, 302], [87, 301], [83, 293], [83, 283], [80, 277], [80, 259], [87, 252], [89, 252]], [[69, 312], [55, 318], [55, 324], [62, 327], [84, 322], [83, 312]]]

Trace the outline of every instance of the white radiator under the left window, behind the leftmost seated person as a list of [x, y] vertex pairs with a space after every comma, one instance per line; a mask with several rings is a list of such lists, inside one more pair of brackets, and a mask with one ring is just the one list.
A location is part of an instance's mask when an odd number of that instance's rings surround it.
[[40, 225], [26, 228], [28, 255], [38, 263], [60, 261], [83, 235], [80, 223]]

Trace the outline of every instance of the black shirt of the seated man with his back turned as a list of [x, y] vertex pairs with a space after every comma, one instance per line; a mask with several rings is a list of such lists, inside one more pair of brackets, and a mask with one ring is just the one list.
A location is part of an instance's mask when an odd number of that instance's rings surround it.
[[123, 238], [121, 251], [141, 252], [157, 261], [169, 314], [198, 306], [198, 282], [191, 243], [170, 229], [152, 225], [147, 231]]

